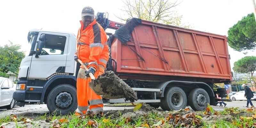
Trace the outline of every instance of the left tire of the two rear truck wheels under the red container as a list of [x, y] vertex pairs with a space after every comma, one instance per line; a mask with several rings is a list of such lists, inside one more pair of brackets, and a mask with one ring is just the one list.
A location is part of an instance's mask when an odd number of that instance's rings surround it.
[[187, 105], [186, 93], [180, 87], [171, 87], [164, 92], [160, 106], [163, 110], [180, 110]]

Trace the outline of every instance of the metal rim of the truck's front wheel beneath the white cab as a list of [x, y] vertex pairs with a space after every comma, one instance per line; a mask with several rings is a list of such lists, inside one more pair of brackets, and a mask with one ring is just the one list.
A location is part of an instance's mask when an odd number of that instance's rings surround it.
[[72, 97], [68, 92], [60, 92], [55, 99], [56, 105], [60, 108], [68, 108], [72, 103]]

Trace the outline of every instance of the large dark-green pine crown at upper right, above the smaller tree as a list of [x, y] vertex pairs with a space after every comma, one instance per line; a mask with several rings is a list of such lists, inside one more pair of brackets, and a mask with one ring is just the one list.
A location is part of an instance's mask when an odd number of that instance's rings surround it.
[[239, 20], [228, 30], [228, 45], [235, 51], [254, 50], [256, 46], [256, 22], [253, 13]]

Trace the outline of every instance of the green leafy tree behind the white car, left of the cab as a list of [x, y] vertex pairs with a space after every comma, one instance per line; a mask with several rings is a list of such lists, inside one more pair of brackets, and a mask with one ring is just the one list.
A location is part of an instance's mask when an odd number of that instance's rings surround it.
[[0, 46], [0, 75], [6, 77], [8, 71], [18, 75], [20, 62], [25, 57], [25, 52], [20, 50], [21, 45], [5, 44], [4, 47]]

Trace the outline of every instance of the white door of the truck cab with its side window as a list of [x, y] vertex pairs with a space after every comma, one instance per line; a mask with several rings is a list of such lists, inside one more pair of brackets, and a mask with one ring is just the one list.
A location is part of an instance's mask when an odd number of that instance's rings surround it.
[[39, 33], [36, 45], [42, 34], [45, 34], [42, 52], [38, 56], [33, 54], [31, 59], [28, 73], [28, 78], [31, 79], [46, 79], [54, 73], [64, 73], [66, 68], [68, 34], [51, 32]]

